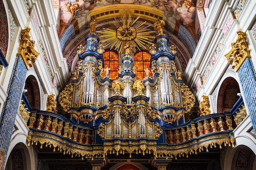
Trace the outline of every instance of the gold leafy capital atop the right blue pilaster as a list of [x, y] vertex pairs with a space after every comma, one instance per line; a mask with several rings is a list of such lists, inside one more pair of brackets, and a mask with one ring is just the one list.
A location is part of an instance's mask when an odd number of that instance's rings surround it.
[[229, 64], [234, 64], [232, 68], [236, 68], [236, 72], [243, 64], [247, 57], [251, 57], [249, 52], [248, 43], [246, 41], [246, 33], [243, 31], [237, 31], [238, 38], [235, 42], [231, 43], [231, 50], [225, 54]]

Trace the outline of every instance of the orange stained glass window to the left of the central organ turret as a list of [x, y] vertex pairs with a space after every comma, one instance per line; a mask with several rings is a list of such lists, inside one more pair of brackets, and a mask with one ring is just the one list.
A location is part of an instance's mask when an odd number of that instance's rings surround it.
[[102, 77], [105, 76], [104, 69], [107, 67], [110, 68], [109, 77], [111, 79], [115, 79], [115, 77], [118, 77], [118, 73], [117, 73], [118, 67], [119, 67], [118, 54], [115, 53], [114, 51], [105, 51], [103, 53], [103, 60], [104, 60], [104, 68], [103, 68]]

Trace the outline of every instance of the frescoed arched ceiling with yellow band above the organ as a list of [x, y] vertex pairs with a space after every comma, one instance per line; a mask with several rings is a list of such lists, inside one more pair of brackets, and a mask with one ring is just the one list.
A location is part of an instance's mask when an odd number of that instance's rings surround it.
[[[164, 33], [170, 39], [168, 46], [171, 46], [172, 44], [176, 46], [177, 57], [175, 58], [175, 62], [177, 69], [185, 71], [189, 58], [192, 57], [191, 55], [193, 55], [193, 50], [196, 46], [196, 43], [194, 43], [194, 48], [191, 50], [191, 43], [187, 41], [192, 39], [192, 41], [195, 42], [195, 0], [192, 0], [191, 3], [184, 1], [184, 4], [179, 4], [175, 0], [154, 0], [153, 2], [145, 1], [145, 3], [136, 0], [132, 2], [130, 0], [100, 0], [90, 2], [90, 6], [88, 2], [84, 2], [83, 4], [81, 0], [79, 0], [77, 2], [78, 4], [81, 2], [79, 8], [81, 6], [83, 8], [79, 10], [77, 9], [77, 14], [73, 13], [71, 19], [71, 11], [62, 10], [67, 6], [66, 1], [69, 0], [61, 0], [60, 3], [61, 22], [59, 35], [61, 46], [63, 46], [63, 57], [67, 60], [70, 72], [74, 71], [76, 63], [78, 62], [78, 56], [76, 53], [77, 46], [80, 44], [85, 46], [86, 44], [84, 38], [89, 34], [90, 20], [92, 18], [96, 18], [96, 31], [102, 31], [103, 28], [109, 27], [109, 22], [114, 22], [117, 17], [121, 18], [126, 10], [127, 13], [134, 18], [139, 16], [140, 18], [138, 22], [146, 21], [147, 25], [151, 25], [149, 28], [152, 31], [154, 30], [154, 22], [156, 22], [157, 19], [164, 20], [166, 22]], [[122, 2], [123, 4], [121, 4]], [[190, 6], [188, 7], [187, 5], [186, 7], [185, 4], [190, 4]], [[63, 7], [64, 5], [65, 7]], [[89, 11], [86, 11], [86, 9], [89, 9]], [[189, 15], [190, 17], [186, 17], [185, 15]], [[72, 25], [72, 27], [70, 25]], [[72, 29], [74, 30], [74, 33], [70, 33], [72, 32]], [[97, 35], [100, 35], [100, 33], [97, 33]], [[157, 33], [154, 35], [156, 36]], [[65, 39], [65, 42], [62, 42], [63, 39]], [[154, 42], [153, 39], [152, 42]]]

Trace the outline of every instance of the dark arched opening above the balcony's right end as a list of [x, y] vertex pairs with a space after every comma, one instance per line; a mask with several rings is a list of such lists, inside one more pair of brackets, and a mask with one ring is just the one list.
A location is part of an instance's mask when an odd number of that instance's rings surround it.
[[233, 77], [227, 77], [222, 82], [218, 91], [217, 113], [229, 111], [239, 99], [239, 84]]

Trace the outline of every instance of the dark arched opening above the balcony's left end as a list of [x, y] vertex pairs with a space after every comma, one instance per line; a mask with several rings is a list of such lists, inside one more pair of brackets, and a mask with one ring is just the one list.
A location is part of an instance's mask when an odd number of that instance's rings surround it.
[[31, 108], [40, 109], [41, 99], [40, 99], [40, 89], [38, 82], [34, 75], [29, 75], [25, 81], [24, 92], [29, 101]]

